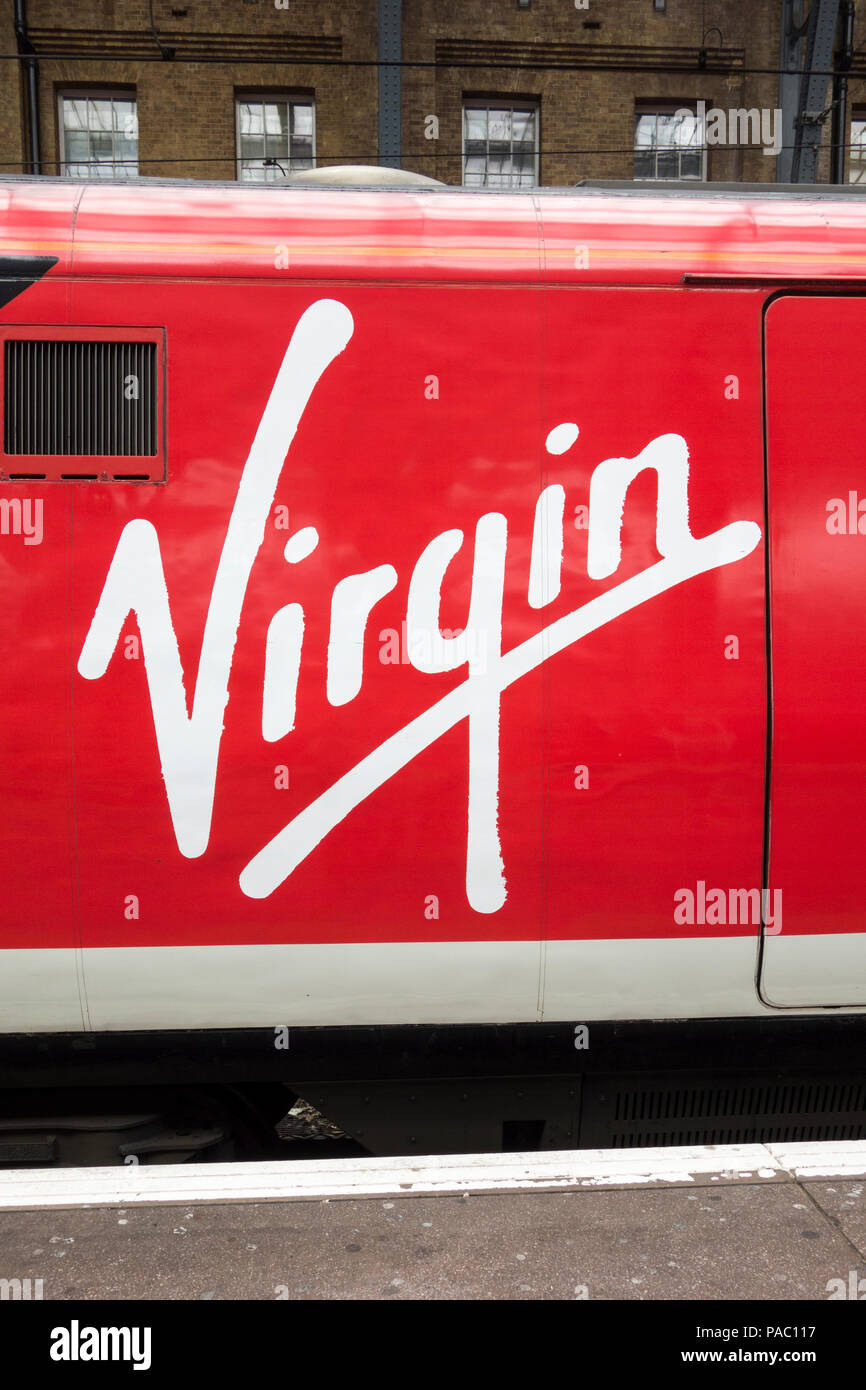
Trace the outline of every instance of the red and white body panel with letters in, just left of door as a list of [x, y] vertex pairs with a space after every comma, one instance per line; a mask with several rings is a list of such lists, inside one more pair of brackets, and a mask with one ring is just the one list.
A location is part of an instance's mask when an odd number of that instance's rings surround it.
[[545, 1017], [749, 1013], [766, 688], [760, 302], [556, 288], [546, 328], [546, 481], [564, 489], [566, 527], [562, 594], [542, 610]]

